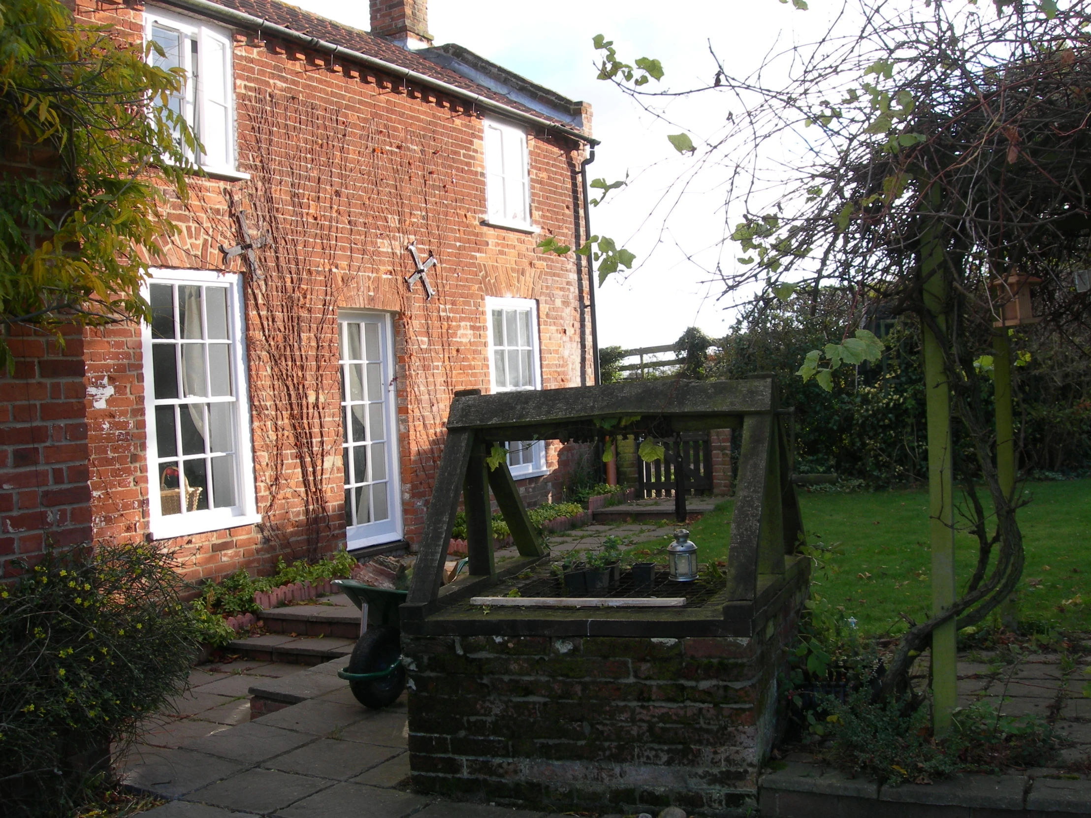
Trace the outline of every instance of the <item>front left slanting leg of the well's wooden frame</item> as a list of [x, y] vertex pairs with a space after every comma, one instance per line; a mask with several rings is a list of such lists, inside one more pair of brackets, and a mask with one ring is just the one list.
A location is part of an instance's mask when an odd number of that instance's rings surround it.
[[435, 599], [443, 579], [451, 530], [458, 512], [458, 495], [463, 490], [466, 467], [470, 460], [473, 432], [466, 429], [447, 432], [447, 441], [435, 474], [432, 502], [424, 515], [420, 555], [413, 568], [412, 582], [406, 602], [422, 605]]

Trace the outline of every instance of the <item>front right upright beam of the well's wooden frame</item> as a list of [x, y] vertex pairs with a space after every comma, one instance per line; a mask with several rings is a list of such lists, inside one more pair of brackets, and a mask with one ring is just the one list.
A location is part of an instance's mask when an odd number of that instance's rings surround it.
[[731, 516], [728, 545], [728, 599], [732, 601], [753, 600], [757, 592], [757, 560], [772, 424], [772, 414], [752, 414], [743, 421], [735, 510]]

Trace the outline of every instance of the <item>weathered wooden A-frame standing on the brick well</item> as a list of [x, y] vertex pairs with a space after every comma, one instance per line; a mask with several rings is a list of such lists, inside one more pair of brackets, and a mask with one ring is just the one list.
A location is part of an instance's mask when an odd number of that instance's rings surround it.
[[[708, 429], [742, 431], [735, 506], [728, 554], [727, 618], [739, 619], [784, 586], [786, 556], [804, 542], [787, 416], [771, 376], [746, 381], [642, 381], [604, 386], [460, 393], [451, 405], [447, 441], [424, 518], [420, 553], [404, 625], [526, 570], [547, 556], [541, 538], [506, 462], [490, 469], [495, 443], [527, 440], [589, 441], [604, 434], [670, 437]], [[620, 425], [624, 423], [624, 425]], [[493, 561], [489, 490], [519, 558], [497, 570]], [[443, 569], [459, 497], [464, 500], [469, 575], [443, 588]], [[750, 618], [750, 615], [744, 618]], [[412, 628], [410, 625], [410, 629]]]

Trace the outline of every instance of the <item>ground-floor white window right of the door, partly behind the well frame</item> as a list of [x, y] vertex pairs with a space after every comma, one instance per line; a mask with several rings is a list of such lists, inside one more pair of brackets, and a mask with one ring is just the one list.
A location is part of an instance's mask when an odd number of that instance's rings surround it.
[[[485, 310], [492, 392], [540, 389], [537, 303], [523, 298], [487, 298]], [[507, 467], [515, 478], [549, 473], [544, 442], [508, 441]]]

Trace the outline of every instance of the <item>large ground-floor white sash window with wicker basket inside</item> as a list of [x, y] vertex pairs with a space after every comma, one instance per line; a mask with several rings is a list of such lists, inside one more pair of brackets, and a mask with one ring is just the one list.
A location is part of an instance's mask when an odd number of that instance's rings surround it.
[[257, 521], [238, 277], [153, 276], [143, 344], [152, 533]]

